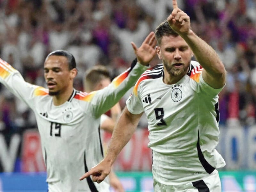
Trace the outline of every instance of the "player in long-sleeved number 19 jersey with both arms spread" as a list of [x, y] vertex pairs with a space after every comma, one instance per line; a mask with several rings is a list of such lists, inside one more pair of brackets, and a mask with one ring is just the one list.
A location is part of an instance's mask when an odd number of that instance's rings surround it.
[[[0, 82], [35, 112], [46, 164], [49, 192], [108, 192], [108, 179], [93, 183], [82, 175], [103, 158], [99, 124], [101, 114], [113, 107], [148, 68], [156, 55], [156, 40], [151, 32], [137, 48], [138, 62], [117, 76], [105, 89], [86, 93], [74, 89], [76, 61], [67, 51], [51, 52], [44, 61], [48, 89], [29, 84], [0, 59]], [[135, 47], [134, 47], [135, 46]]]

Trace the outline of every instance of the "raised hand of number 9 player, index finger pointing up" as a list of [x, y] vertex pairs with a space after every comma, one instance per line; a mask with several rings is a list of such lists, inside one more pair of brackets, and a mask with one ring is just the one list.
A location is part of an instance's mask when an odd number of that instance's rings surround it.
[[178, 8], [177, 0], [172, 0], [172, 6], [172, 14], [167, 18], [169, 25], [178, 34], [187, 34], [191, 28], [189, 16]]

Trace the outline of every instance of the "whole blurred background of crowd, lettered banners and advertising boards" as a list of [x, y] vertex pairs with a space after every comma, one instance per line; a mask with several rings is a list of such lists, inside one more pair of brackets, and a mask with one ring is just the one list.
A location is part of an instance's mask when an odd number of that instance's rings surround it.
[[[225, 192], [256, 191], [256, 0], [177, 0], [193, 31], [210, 44], [228, 72], [220, 93], [220, 171]], [[24, 79], [45, 86], [43, 63], [65, 49], [84, 71], [107, 66], [112, 77], [135, 58], [150, 31], [172, 11], [171, 0], [0, 0], [0, 57]], [[161, 61], [156, 57], [151, 66]], [[120, 100], [124, 108], [130, 92]], [[111, 135], [102, 140], [107, 147]], [[152, 191], [152, 152], [142, 118], [114, 169], [127, 191]], [[33, 112], [0, 84], [0, 192], [46, 191], [45, 165]], [[77, 177], [80, 177], [78, 175]]]

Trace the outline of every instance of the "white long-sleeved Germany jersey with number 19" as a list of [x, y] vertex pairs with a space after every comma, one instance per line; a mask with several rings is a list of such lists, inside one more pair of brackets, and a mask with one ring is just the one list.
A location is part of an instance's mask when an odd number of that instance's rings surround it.
[[25, 101], [36, 115], [47, 170], [49, 192], [109, 191], [108, 179], [100, 184], [79, 177], [103, 158], [100, 116], [114, 106], [147, 69], [132, 67], [99, 91], [74, 90], [69, 100], [54, 106], [48, 89], [29, 84], [8, 63], [0, 60], [0, 82]]

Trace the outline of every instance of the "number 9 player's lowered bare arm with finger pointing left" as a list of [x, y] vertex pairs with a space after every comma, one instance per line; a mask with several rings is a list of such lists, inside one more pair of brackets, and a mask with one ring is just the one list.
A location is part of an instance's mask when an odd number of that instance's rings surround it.
[[116, 157], [124, 148], [126, 143], [131, 139], [133, 132], [139, 123], [140, 117], [143, 113], [139, 115], [134, 115], [128, 111], [125, 107], [122, 115], [120, 116], [114, 132], [112, 134], [108, 151], [104, 159], [89, 172], [86, 172], [80, 180], [92, 175], [92, 180], [94, 182], [100, 183], [109, 174]]

